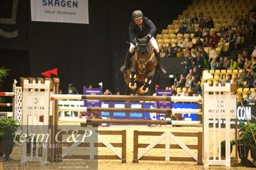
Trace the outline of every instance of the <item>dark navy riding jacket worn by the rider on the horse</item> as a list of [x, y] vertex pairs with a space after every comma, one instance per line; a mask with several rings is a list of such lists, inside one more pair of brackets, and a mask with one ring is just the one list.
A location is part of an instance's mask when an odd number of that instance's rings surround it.
[[133, 22], [131, 22], [129, 25], [130, 41], [133, 43], [133, 45], [136, 45], [137, 42], [135, 40], [135, 36], [137, 36], [137, 38], [142, 38], [147, 35], [152, 37], [155, 35], [156, 31], [157, 28], [155, 27], [155, 24], [153, 24], [153, 22], [146, 17], [143, 18], [142, 31], [133, 20]]

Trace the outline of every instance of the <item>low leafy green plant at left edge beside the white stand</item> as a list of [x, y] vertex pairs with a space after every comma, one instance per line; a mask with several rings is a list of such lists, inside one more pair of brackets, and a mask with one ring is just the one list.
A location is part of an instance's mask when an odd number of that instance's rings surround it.
[[19, 127], [19, 121], [13, 120], [13, 118], [1, 118], [0, 119], [0, 141], [11, 140], [15, 137], [14, 132]]

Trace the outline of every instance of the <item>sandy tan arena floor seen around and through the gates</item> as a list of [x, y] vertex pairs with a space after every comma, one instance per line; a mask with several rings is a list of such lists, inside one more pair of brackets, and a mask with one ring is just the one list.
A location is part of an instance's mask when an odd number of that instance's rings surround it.
[[[126, 163], [122, 164], [121, 160], [99, 160], [98, 169], [203, 169], [203, 166], [198, 166], [196, 162], [165, 162], [165, 161], [146, 161], [140, 160], [138, 164], [133, 164], [133, 130], [140, 131], [171, 131], [171, 132], [201, 132], [201, 127], [147, 127], [147, 126], [111, 126], [111, 127], [99, 127], [99, 130], [126, 130]], [[224, 129], [223, 135], [224, 135]], [[108, 141], [113, 141], [115, 143], [121, 143], [121, 137], [116, 137], [114, 135], [104, 135], [103, 136]], [[231, 139], [234, 137], [234, 130], [232, 130]], [[139, 143], [151, 143], [155, 137], [141, 136], [139, 137]], [[185, 144], [197, 144], [196, 138], [193, 137], [179, 137], [180, 140]], [[161, 142], [164, 143], [164, 140]], [[171, 141], [173, 143], [173, 141]], [[29, 162], [27, 166], [20, 166], [20, 146], [15, 146], [13, 148], [12, 158], [14, 161], [5, 162], [3, 169], [79, 169], [76, 167], [65, 167], [60, 166], [58, 162], [50, 162], [45, 167], [40, 167], [38, 162]], [[99, 155], [112, 155], [112, 152], [107, 148], [99, 148]], [[194, 150], [196, 152], [196, 150]], [[78, 150], [78, 153], [83, 153], [82, 150]], [[140, 152], [140, 149], [139, 149]], [[164, 149], [153, 149], [149, 151], [146, 155], [148, 156], [164, 156]], [[183, 150], [171, 150], [171, 155], [175, 157], [188, 157], [187, 153]], [[235, 157], [235, 151], [232, 151], [232, 157]], [[252, 158], [250, 157], [250, 160]], [[240, 162], [240, 160], [239, 160]], [[1, 169], [1, 168], [0, 168]], [[210, 166], [210, 169], [225, 169], [225, 166]], [[232, 169], [253, 169], [246, 167], [232, 167]]]

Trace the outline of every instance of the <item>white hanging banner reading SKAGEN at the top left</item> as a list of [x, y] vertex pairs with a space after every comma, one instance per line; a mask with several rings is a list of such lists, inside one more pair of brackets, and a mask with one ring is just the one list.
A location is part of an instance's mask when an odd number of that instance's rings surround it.
[[31, 20], [89, 24], [88, 0], [31, 0]]

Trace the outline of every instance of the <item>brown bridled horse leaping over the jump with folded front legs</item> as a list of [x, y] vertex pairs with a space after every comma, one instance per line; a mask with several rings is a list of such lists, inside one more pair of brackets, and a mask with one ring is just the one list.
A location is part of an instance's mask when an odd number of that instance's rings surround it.
[[131, 58], [132, 64], [124, 72], [124, 80], [128, 86], [126, 95], [129, 88], [133, 91], [133, 95], [137, 92], [141, 95], [148, 93], [157, 66], [154, 49], [146, 43], [146, 37], [136, 40], [138, 45]]

